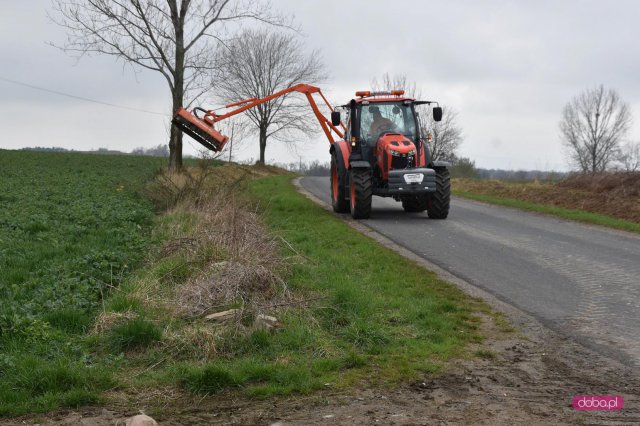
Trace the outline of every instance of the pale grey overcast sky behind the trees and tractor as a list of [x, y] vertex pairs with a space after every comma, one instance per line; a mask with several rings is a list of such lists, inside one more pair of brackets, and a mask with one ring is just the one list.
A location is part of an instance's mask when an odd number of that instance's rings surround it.
[[[459, 113], [459, 154], [487, 168], [565, 170], [558, 135], [563, 106], [604, 84], [631, 106], [640, 140], [638, 1], [274, 0], [293, 13], [344, 103], [385, 72], [405, 74], [427, 98]], [[70, 58], [48, 42], [64, 30], [48, 0], [0, 0], [0, 148], [106, 147], [130, 151], [168, 140], [170, 97], [158, 74], [109, 57]], [[144, 109], [112, 108], [9, 83]], [[206, 106], [206, 105], [203, 105]], [[186, 142], [185, 153], [195, 153]], [[257, 158], [257, 139], [240, 159]], [[273, 142], [268, 161], [328, 161], [321, 135], [295, 149]]]

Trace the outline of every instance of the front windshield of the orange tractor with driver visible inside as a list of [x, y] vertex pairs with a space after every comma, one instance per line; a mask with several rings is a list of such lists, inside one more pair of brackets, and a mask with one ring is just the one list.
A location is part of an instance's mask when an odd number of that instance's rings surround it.
[[367, 144], [375, 144], [386, 132], [402, 133], [416, 140], [416, 119], [411, 105], [399, 102], [362, 105], [360, 132]]

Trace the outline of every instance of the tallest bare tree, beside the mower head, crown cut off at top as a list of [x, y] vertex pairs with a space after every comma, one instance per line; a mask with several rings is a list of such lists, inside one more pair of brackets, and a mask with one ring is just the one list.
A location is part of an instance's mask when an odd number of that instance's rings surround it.
[[[67, 29], [67, 52], [114, 56], [164, 76], [172, 112], [211, 88], [212, 51], [228, 25], [282, 25], [270, 4], [252, 0], [52, 0], [52, 20]], [[172, 114], [173, 115], [173, 114]], [[169, 167], [182, 167], [182, 132], [171, 126]]]

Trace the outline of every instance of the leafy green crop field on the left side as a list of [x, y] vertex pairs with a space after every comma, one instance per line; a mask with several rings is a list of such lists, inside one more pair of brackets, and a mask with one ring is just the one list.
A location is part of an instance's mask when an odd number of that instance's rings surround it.
[[0, 414], [112, 386], [82, 336], [150, 244], [139, 191], [160, 161], [0, 150]]

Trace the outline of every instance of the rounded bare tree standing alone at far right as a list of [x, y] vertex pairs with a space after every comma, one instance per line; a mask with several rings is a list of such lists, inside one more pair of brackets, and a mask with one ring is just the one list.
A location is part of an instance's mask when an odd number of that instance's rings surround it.
[[564, 107], [560, 133], [571, 163], [584, 173], [599, 173], [616, 159], [630, 126], [629, 106], [615, 90], [600, 85]]

